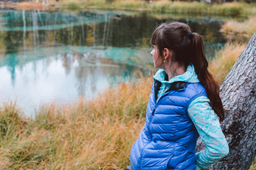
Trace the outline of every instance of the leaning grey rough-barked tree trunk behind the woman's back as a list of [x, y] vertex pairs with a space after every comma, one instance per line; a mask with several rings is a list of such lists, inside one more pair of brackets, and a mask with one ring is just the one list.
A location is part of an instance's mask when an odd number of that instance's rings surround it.
[[[229, 154], [205, 169], [249, 169], [256, 155], [256, 32], [220, 85]], [[203, 148], [198, 142], [197, 151]]]

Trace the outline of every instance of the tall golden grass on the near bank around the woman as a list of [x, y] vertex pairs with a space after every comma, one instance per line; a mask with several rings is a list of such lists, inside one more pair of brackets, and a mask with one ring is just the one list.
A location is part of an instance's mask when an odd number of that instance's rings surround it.
[[[245, 44], [228, 44], [210, 64], [216, 76], [228, 73]], [[233, 54], [229, 54], [237, 49]], [[239, 50], [238, 50], [239, 49]], [[226, 54], [233, 59], [224, 63]], [[218, 62], [216, 62], [218, 61]], [[214, 63], [214, 64], [213, 64]], [[229, 65], [224, 67], [223, 64]], [[221, 71], [220, 71], [221, 70]], [[219, 82], [225, 75], [217, 77]], [[145, 124], [152, 78], [120, 83], [95, 100], [69, 106], [45, 105], [35, 120], [15, 103], [0, 109], [0, 165], [4, 169], [122, 169]]]

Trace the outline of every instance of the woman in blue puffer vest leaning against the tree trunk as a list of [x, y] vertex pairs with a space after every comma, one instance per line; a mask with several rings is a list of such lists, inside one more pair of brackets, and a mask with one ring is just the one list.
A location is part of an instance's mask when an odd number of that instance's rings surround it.
[[[151, 38], [154, 67], [146, 123], [131, 150], [131, 168], [201, 169], [228, 155], [224, 109], [208, 72], [204, 41], [184, 23], [161, 24]], [[217, 116], [215, 115], [217, 114]], [[196, 140], [206, 149], [195, 153]]]

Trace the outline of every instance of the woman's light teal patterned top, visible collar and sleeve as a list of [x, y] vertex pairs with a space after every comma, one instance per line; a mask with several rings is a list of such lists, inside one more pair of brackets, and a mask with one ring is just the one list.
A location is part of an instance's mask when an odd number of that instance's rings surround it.
[[[157, 102], [174, 82], [199, 82], [192, 64], [188, 65], [184, 74], [175, 76], [169, 81], [165, 80], [165, 75], [164, 70], [158, 70], [153, 76], [154, 79], [162, 83], [157, 94]], [[228, 155], [229, 152], [228, 143], [220, 128], [219, 119], [209, 104], [210, 101], [207, 97], [200, 96], [191, 102], [187, 111], [206, 147], [205, 150], [196, 153], [197, 170], [217, 162]]]

